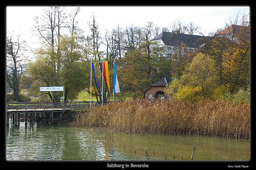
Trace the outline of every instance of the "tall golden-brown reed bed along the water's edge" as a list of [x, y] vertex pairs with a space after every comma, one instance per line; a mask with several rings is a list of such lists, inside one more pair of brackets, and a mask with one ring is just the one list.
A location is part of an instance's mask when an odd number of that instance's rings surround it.
[[129, 133], [195, 134], [249, 138], [249, 104], [228, 101], [136, 100], [82, 110], [72, 126], [99, 127]]

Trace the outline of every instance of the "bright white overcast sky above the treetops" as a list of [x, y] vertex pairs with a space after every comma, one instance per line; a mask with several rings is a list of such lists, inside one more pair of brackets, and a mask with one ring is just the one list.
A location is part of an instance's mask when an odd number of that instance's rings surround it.
[[[37, 43], [38, 39], [32, 36], [32, 27], [35, 24], [34, 17], [42, 16], [43, 8], [33, 6], [7, 6], [6, 7], [6, 30], [20, 34], [21, 39]], [[73, 7], [71, 7], [73, 8]], [[205, 36], [209, 32], [214, 32], [225, 26], [230, 17], [235, 17], [237, 12], [249, 13], [249, 6], [83, 6], [77, 21], [79, 27], [85, 31], [85, 35], [90, 34], [88, 22], [92, 22], [92, 15], [95, 16], [96, 23], [105, 36], [106, 30], [111, 32], [119, 24], [122, 27], [129, 25], [145, 27], [147, 22], [153, 22], [154, 26], [168, 27], [174, 20], [181, 20], [183, 24], [193, 22], [195, 26], [201, 28]]]

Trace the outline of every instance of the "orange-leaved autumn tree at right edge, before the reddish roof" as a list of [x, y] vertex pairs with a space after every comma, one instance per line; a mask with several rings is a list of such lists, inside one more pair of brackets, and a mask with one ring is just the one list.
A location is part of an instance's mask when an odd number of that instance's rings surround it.
[[[218, 74], [229, 93], [249, 87], [249, 23], [238, 12], [225, 30], [205, 39], [202, 52], [216, 61]], [[239, 24], [239, 25], [237, 25]]]

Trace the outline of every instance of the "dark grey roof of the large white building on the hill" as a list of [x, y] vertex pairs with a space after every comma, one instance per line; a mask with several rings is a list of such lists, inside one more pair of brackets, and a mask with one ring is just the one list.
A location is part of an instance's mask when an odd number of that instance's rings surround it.
[[[199, 47], [202, 43], [200, 38], [204, 36], [200, 35], [189, 35], [189, 34], [179, 34], [175, 32], [162, 32], [157, 35], [152, 41], [154, 40], [162, 40], [165, 45], [177, 45], [177, 43], [183, 42], [188, 47]], [[179, 42], [178, 42], [179, 41]]]

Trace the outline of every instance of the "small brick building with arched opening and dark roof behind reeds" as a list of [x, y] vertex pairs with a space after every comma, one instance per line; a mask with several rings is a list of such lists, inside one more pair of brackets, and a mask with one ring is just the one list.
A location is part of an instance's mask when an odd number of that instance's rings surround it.
[[149, 85], [143, 93], [145, 93], [145, 99], [165, 99], [165, 86], [171, 81], [171, 78], [163, 78], [155, 83]]

